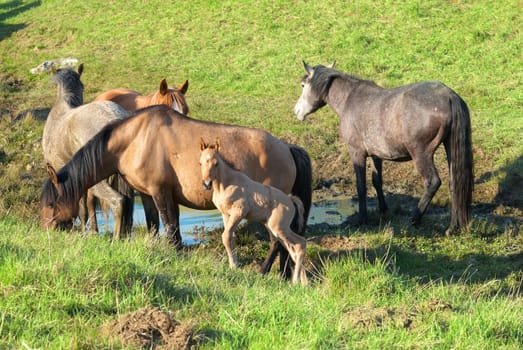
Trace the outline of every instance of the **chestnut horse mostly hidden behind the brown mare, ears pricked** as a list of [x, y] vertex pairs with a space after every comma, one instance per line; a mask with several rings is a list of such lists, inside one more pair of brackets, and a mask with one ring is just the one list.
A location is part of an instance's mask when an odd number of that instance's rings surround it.
[[158, 90], [147, 96], [142, 96], [134, 90], [118, 88], [106, 91], [98, 95], [94, 100], [116, 102], [130, 113], [149, 106], [166, 105], [182, 114], [188, 114], [189, 107], [185, 101], [185, 93], [188, 88], [189, 81], [187, 80], [177, 88], [171, 88], [167, 85], [167, 81], [162, 79]]

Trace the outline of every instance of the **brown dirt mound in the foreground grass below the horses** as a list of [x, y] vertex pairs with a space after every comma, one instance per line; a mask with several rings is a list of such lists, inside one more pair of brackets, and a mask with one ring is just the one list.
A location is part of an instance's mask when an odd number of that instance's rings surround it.
[[129, 312], [105, 324], [102, 333], [126, 346], [143, 349], [192, 349], [196, 346], [193, 326], [176, 321], [158, 307]]

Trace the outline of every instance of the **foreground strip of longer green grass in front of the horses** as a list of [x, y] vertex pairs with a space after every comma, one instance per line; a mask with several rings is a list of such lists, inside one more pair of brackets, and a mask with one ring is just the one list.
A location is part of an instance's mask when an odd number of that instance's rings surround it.
[[[245, 266], [232, 272], [214, 245], [176, 253], [147, 235], [111, 242], [7, 218], [0, 229], [0, 346], [6, 348], [117, 346], [101, 336], [103, 324], [152, 305], [195, 323], [202, 348], [516, 349], [523, 343], [523, 275], [510, 285], [495, 278], [521, 263], [498, 264], [501, 271], [478, 283], [469, 276], [472, 262], [434, 244], [428, 261], [468, 267], [425, 282], [420, 277], [433, 265], [413, 269], [400, 257], [401, 239], [387, 232], [351, 237], [367, 241], [368, 252], [347, 250], [316, 262], [320, 279], [303, 288]], [[424, 243], [413, 240], [409, 250]], [[487, 246], [499, 251], [511, 243]]]

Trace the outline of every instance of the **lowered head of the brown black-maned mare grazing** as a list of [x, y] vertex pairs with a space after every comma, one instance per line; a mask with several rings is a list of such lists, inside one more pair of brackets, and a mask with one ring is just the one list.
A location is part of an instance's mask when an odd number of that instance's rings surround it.
[[70, 228], [78, 214], [78, 202], [68, 205], [64, 200], [59, 175], [47, 165], [49, 179], [44, 183], [40, 197], [40, 224], [44, 229]]

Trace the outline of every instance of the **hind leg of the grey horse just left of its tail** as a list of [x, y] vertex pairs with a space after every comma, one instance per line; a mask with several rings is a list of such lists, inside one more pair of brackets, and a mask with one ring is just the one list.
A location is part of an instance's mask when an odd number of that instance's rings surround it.
[[439, 178], [438, 171], [434, 166], [433, 154], [430, 156], [420, 155], [415, 158], [416, 168], [423, 179], [423, 187], [425, 192], [418, 202], [418, 207], [414, 210], [412, 216], [412, 223], [418, 225], [421, 221], [421, 217], [425, 214], [427, 207], [434, 197], [434, 194], [438, 191], [441, 185], [441, 179]]

